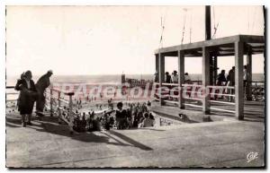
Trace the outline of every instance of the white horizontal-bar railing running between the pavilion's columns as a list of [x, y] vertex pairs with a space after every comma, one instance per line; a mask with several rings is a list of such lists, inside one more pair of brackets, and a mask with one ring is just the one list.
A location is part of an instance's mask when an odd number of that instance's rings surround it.
[[[193, 82], [196, 84], [182, 84], [181, 90], [183, 91], [184, 106], [193, 108], [202, 108], [202, 85], [197, 84], [200, 82]], [[252, 100], [264, 101], [265, 100], [265, 82], [251, 82], [251, 95]], [[159, 100], [162, 96], [162, 100], [165, 103], [171, 103], [179, 105], [179, 87], [177, 83], [162, 83], [161, 92], [159, 83], [155, 82], [156, 91], [155, 99]], [[236, 106], [235, 103], [235, 87], [234, 86], [207, 86], [206, 90], [210, 94], [210, 110], [222, 111], [235, 114], [235, 108], [225, 109], [217, 108], [220, 105]], [[160, 95], [161, 93], [161, 95]], [[245, 98], [247, 99], [246, 92]]]

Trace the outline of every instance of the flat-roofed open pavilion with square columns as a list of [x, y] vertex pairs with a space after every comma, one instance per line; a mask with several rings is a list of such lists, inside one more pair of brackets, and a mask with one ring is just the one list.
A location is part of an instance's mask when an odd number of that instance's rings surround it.
[[[178, 58], [178, 86], [179, 93], [184, 86], [184, 57], [202, 57], [202, 87], [207, 88], [214, 85], [211, 81], [211, 59], [215, 61], [213, 65], [216, 69], [217, 58], [219, 56], [235, 56], [235, 116], [241, 120], [244, 119], [244, 84], [243, 84], [243, 64], [244, 56], [247, 55], [247, 99], [251, 96], [252, 82], [252, 55], [265, 54], [265, 37], [252, 35], [236, 35], [220, 39], [209, 39], [200, 42], [177, 45], [167, 48], [158, 48], [156, 55], [156, 71], [159, 74], [159, 86], [165, 82], [165, 57], [176, 56]], [[264, 55], [265, 56], [265, 55]], [[161, 94], [161, 90], [159, 91]], [[178, 94], [178, 106], [184, 108], [184, 98]], [[165, 102], [159, 99], [160, 106]], [[209, 96], [202, 99], [202, 111], [204, 114], [210, 114], [211, 100]]]

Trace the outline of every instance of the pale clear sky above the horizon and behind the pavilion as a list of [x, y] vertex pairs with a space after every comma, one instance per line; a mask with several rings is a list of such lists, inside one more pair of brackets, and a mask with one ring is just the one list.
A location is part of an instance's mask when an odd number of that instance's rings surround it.
[[[204, 39], [204, 6], [7, 6], [6, 74], [153, 74], [154, 51]], [[216, 38], [264, 35], [262, 6], [211, 6]], [[190, 31], [191, 30], [191, 31]], [[244, 64], [246, 60], [244, 60]], [[229, 71], [234, 57], [219, 57]], [[253, 73], [264, 72], [253, 56]], [[166, 71], [177, 58], [166, 58]], [[185, 71], [202, 73], [202, 57], [185, 58]]]

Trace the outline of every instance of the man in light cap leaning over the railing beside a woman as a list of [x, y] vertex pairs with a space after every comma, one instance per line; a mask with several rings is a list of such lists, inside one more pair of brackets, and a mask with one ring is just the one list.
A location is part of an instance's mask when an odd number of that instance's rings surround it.
[[44, 74], [40, 77], [38, 82], [36, 83], [36, 89], [38, 91], [38, 99], [37, 99], [37, 104], [36, 104], [36, 114], [37, 116], [43, 116], [42, 112], [45, 107], [45, 96], [44, 92], [45, 90], [49, 87], [50, 81], [49, 77], [52, 75], [52, 71], [49, 70], [47, 74]]

